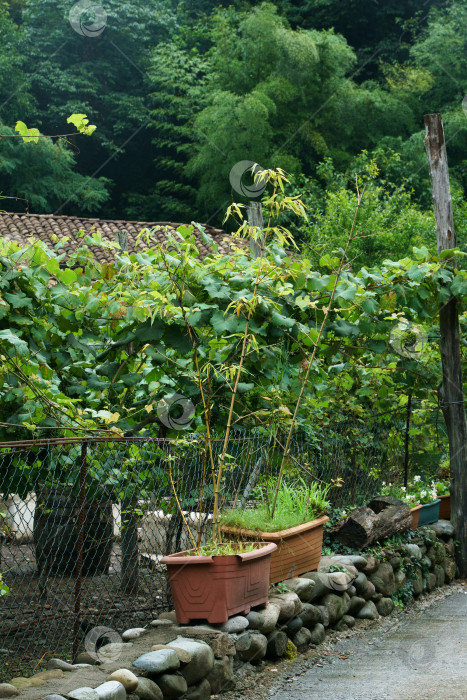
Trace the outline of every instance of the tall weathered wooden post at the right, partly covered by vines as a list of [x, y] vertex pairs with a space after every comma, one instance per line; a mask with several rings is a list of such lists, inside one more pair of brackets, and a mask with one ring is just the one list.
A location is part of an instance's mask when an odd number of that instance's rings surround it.
[[[438, 253], [456, 247], [449, 170], [440, 114], [426, 114], [425, 149], [430, 167]], [[446, 261], [455, 267], [455, 258]], [[443, 381], [441, 407], [449, 440], [451, 473], [451, 521], [459, 541], [457, 563], [467, 575], [467, 420], [462, 391], [462, 366], [457, 300], [452, 297], [439, 310], [440, 351]]]

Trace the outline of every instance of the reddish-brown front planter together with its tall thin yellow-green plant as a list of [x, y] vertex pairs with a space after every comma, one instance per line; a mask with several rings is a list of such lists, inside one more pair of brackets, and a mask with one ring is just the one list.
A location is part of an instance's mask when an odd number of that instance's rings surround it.
[[[268, 181], [273, 187], [268, 203], [271, 211], [275, 213], [270, 214], [267, 226], [264, 228], [250, 227], [244, 220], [241, 212], [243, 205], [232, 205], [227, 212], [227, 216], [235, 212], [240, 218], [239, 236], [243, 234], [243, 236], [254, 238], [260, 250], [260, 255], [259, 258], [254, 255], [250, 256], [248, 270], [245, 270], [251, 279], [251, 288], [248, 290], [248, 294], [237, 297], [225, 312], [225, 315], [230, 317], [232, 323], [234, 323], [235, 319], [241, 317], [242, 330], [234, 336], [233, 353], [226, 353], [224, 365], [213, 370], [210, 359], [208, 358], [206, 362], [203, 353], [198, 349], [197, 333], [189, 323], [186, 324], [193, 348], [195, 379], [203, 407], [205, 452], [208, 456], [208, 469], [203, 472], [199, 488], [199, 502], [203, 502], [207, 487], [205, 475], [210, 474], [213, 488], [213, 507], [212, 544], [206, 549], [206, 547], [200, 547], [197, 533], [192, 532], [186, 521], [171, 475], [179, 512], [193, 544], [193, 549], [189, 552], [171, 554], [162, 559], [162, 562], [167, 565], [175, 611], [177, 619], [181, 623], [187, 623], [192, 619], [224, 622], [230, 615], [239, 612], [248, 613], [252, 606], [266, 603], [269, 586], [270, 556], [277, 549], [277, 545], [270, 542], [256, 541], [253, 544], [251, 542], [245, 544], [239, 541], [223, 542], [220, 523], [220, 492], [225, 472], [229, 470], [232, 462], [231, 455], [228, 454], [227, 449], [232, 425], [235, 421], [238, 400], [244, 387], [242, 375], [245, 373], [245, 363], [248, 354], [259, 350], [254, 329], [256, 327], [255, 314], [261, 303], [261, 294], [264, 294], [261, 286], [264, 286], [266, 281], [271, 286], [280, 282], [280, 270], [267, 259], [265, 254], [266, 245], [269, 243], [268, 239], [271, 238], [274, 238], [280, 245], [293, 244], [290, 234], [285, 232], [282, 227], [272, 226], [271, 222], [274, 216], [279, 216], [285, 211], [293, 211], [296, 214], [304, 215], [301, 202], [297, 198], [287, 197], [284, 194], [283, 183], [285, 178], [281, 171], [263, 171], [259, 173], [258, 177], [264, 178], [264, 183], [266, 184]], [[187, 247], [180, 250], [180, 259], [171, 273], [171, 280], [173, 281], [172, 294], [176, 299], [171, 314], [181, 313], [183, 319], [187, 317], [185, 309], [186, 294], [180, 280], [184, 264], [190, 265], [189, 254], [190, 250]], [[235, 255], [235, 253], [233, 254]], [[238, 250], [236, 254], [239, 260], [245, 257], [242, 250]], [[173, 255], [171, 258], [173, 259]], [[168, 258], [163, 259], [163, 265], [167, 271], [170, 271]], [[271, 308], [271, 311], [273, 311], [273, 308]], [[235, 325], [237, 323], [235, 322]], [[216, 345], [222, 345], [224, 342], [224, 338], [215, 339]], [[236, 359], [233, 360], [232, 357]], [[230, 398], [227, 401], [228, 408], [224, 439], [218, 456], [214, 454], [213, 449], [212, 399], [209, 396], [210, 377], [213, 375], [213, 372], [215, 372], [216, 377], [222, 377], [222, 381], [231, 387]], [[167, 457], [169, 470], [173, 461], [173, 455]]]

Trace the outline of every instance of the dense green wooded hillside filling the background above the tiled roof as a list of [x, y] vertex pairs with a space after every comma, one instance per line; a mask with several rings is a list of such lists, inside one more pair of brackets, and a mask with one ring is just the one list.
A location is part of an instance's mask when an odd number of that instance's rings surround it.
[[[99, 124], [85, 149], [75, 138], [29, 150], [0, 139], [0, 189], [19, 198], [8, 209], [207, 220], [231, 201], [230, 168], [248, 158], [287, 170], [330, 226], [365, 149], [382, 178], [356, 254], [379, 263], [380, 253], [406, 254], [406, 241], [428, 243], [422, 116], [433, 111], [443, 112], [463, 196], [466, 0], [108, 0], [105, 9], [105, 29], [90, 38], [70, 26], [64, 0], [2, 6], [0, 133], [18, 118], [58, 133], [71, 112]], [[18, 177], [25, 169], [31, 179]], [[319, 218], [297, 239], [321, 243]]]

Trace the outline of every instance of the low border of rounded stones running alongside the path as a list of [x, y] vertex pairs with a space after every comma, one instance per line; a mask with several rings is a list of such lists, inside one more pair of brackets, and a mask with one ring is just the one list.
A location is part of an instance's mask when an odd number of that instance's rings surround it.
[[272, 587], [267, 605], [222, 625], [181, 626], [174, 612], [161, 613], [148, 629], [126, 630], [121, 642], [83, 652], [80, 663], [51, 659], [47, 671], [0, 684], [0, 698], [209, 700], [233, 690], [251, 665], [293, 659], [321, 644], [327, 629], [389, 615], [398, 594], [418, 597], [451, 583], [452, 537], [452, 525], [439, 521], [378, 558], [322, 557], [319, 571]]

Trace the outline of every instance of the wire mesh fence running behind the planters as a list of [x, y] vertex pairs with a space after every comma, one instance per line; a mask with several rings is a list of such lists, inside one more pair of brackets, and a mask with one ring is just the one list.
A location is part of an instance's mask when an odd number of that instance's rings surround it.
[[[359, 503], [380, 483], [380, 440], [356, 450], [354, 428], [315, 439], [297, 434], [286, 475], [343, 486], [335, 505]], [[277, 436], [280, 445], [281, 437]], [[213, 443], [213, 461], [222, 438]], [[271, 437], [233, 433], [221, 484], [223, 505], [246, 503], [277, 473]], [[51, 439], [0, 444], [0, 679], [72, 659], [96, 626], [120, 632], [170, 607], [160, 559], [210, 535], [214, 489], [203, 440]], [[199, 486], [205, 486], [200, 490]]]

